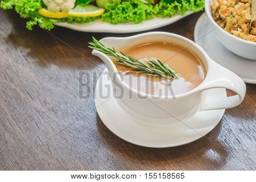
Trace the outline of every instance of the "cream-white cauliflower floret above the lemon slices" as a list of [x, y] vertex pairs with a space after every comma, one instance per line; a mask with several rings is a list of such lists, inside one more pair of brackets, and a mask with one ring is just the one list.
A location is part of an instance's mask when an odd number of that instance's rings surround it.
[[47, 9], [52, 12], [67, 12], [75, 7], [76, 0], [43, 0]]

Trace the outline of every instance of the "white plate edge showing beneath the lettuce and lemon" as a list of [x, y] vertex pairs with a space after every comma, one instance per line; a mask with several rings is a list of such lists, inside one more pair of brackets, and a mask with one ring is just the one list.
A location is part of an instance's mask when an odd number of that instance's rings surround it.
[[66, 23], [60, 22], [56, 23], [56, 26], [70, 28], [72, 30], [82, 31], [82, 32], [106, 32], [106, 33], [130, 33], [130, 32], [140, 32], [151, 30], [154, 28], [159, 28], [166, 26], [168, 24], [174, 23], [185, 16], [193, 14], [193, 11], [187, 11], [184, 15], [174, 15], [171, 18], [158, 18], [155, 17], [150, 20], [145, 20], [142, 23], [117, 23], [110, 24], [107, 22], [102, 22], [101, 19], [97, 19], [94, 22], [89, 23]]

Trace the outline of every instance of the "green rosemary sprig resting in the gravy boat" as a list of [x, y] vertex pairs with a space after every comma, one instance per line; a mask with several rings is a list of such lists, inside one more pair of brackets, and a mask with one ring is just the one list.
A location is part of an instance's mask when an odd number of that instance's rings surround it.
[[149, 60], [147, 63], [144, 63], [141, 60], [135, 59], [134, 57], [127, 56], [125, 53], [120, 51], [119, 53], [115, 51], [115, 48], [110, 49], [105, 47], [102, 43], [100, 43], [97, 39], [93, 37], [93, 42], [89, 43], [89, 48], [96, 49], [105, 55], [117, 60], [115, 64], [122, 64], [126, 67], [133, 68], [135, 73], [142, 73], [144, 75], [150, 76], [162, 76], [164, 78], [179, 78], [179, 74], [168, 67], [168, 65], [164, 64], [162, 61]]

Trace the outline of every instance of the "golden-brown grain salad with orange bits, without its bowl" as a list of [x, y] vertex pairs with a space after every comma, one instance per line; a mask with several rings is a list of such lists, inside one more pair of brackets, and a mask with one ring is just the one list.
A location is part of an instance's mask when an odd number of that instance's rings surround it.
[[256, 23], [251, 24], [251, 0], [213, 0], [213, 19], [230, 34], [256, 42]]

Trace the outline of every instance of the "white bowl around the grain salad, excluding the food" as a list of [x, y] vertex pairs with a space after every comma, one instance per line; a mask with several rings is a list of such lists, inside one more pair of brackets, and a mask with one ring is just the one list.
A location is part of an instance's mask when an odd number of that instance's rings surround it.
[[217, 39], [223, 44], [223, 46], [236, 55], [256, 60], [256, 43], [237, 38], [218, 26], [212, 18], [212, 11], [210, 10], [211, 3], [212, 0], [205, 0], [205, 12]]

